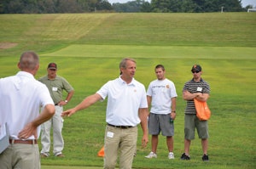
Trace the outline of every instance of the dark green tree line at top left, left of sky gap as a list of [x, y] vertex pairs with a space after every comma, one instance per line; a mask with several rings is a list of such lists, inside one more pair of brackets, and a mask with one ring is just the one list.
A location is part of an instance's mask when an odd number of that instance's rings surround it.
[[107, 0], [1, 0], [0, 14], [82, 13], [111, 10]]

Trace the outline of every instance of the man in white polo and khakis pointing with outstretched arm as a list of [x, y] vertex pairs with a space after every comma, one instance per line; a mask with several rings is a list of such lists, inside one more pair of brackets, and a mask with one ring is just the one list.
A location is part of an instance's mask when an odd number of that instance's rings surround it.
[[62, 116], [73, 115], [108, 97], [107, 127], [104, 144], [104, 168], [114, 169], [119, 155], [119, 168], [131, 169], [137, 146], [137, 125], [143, 129], [142, 144], [148, 144], [148, 104], [146, 90], [133, 76], [136, 72], [134, 59], [122, 59], [119, 64], [120, 76], [107, 82], [95, 94], [85, 98]]

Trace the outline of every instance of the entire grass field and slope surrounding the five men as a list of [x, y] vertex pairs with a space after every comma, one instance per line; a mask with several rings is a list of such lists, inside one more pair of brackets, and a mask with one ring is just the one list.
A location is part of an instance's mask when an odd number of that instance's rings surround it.
[[[167, 78], [177, 87], [174, 154], [167, 159], [166, 139], [160, 137], [158, 158], [144, 156], [141, 130], [134, 168], [255, 168], [256, 167], [256, 14], [1, 14], [0, 77], [17, 72], [16, 63], [25, 50], [40, 55], [39, 76], [54, 61], [58, 74], [75, 88], [65, 109], [95, 93], [119, 76], [119, 61], [137, 60], [136, 79], [145, 87], [154, 80], [154, 66], [166, 66]], [[208, 101], [210, 161], [201, 161], [201, 141], [191, 145], [191, 161], [179, 161], [183, 153], [184, 82], [192, 78], [191, 66], [200, 64], [210, 83]], [[44, 168], [97, 169], [102, 148], [106, 101], [65, 118], [65, 158], [43, 159]], [[71, 167], [74, 166], [74, 167]]]

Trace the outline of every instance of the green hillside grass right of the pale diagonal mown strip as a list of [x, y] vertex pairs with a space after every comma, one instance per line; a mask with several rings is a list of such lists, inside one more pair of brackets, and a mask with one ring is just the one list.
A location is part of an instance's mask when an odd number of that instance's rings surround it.
[[256, 14], [114, 14], [80, 42], [255, 47]]

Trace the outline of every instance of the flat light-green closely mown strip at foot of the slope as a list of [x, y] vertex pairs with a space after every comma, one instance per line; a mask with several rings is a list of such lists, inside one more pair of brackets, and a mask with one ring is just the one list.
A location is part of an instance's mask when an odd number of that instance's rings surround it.
[[42, 56], [99, 58], [256, 59], [256, 48], [73, 44]]

